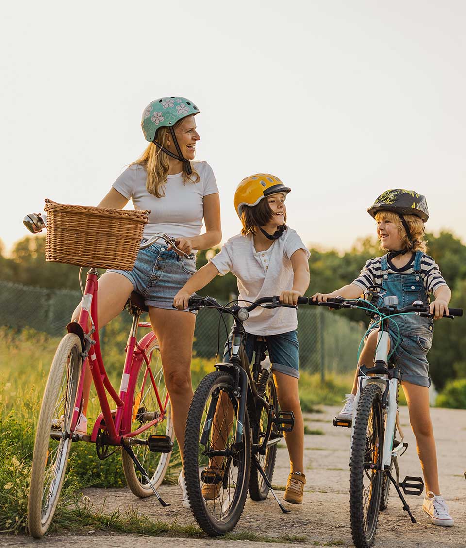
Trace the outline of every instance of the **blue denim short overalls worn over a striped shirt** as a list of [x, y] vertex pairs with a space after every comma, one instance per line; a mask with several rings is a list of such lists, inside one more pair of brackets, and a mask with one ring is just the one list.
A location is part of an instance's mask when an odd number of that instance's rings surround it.
[[[420, 273], [420, 261], [423, 253], [418, 251], [414, 255], [412, 274], [395, 274], [389, 272], [388, 254], [380, 261], [382, 286], [387, 290], [384, 296], [396, 295], [397, 308], [411, 306], [413, 301], [422, 301], [425, 306], [429, 304], [422, 275]], [[377, 305], [383, 305], [383, 296], [378, 298]], [[423, 318], [413, 314], [395, 316], [390, 319], [388, 332], [390, 335], [390, 351], [394, 349], [398, 339], [398, 331], [394, 322], [400, 329], [400, 339], [392, 359], [400, 368], [401, 381], [408, 381], [419, 386], [430, 386], [428, 375], [429, 362], [427, 352], [432, 345], [434, 334], [434, 322], [431, 318]], [[378, 324], [371, 324], [373, 329], [378, 329]]]

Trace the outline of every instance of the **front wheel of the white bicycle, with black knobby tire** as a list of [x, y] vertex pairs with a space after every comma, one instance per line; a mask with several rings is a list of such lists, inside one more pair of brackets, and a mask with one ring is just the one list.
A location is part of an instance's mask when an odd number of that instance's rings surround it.
[[354, 425], [350, 462], [351, 535], [357, 548], [372, 546], [382, 495], [382, 392], [376, 383], [361, 393]]

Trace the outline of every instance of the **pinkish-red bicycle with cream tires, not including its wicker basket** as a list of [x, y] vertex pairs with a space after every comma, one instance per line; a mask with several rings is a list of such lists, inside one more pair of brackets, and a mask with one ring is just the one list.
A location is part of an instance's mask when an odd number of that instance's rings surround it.
[[[25, 224], [32, 232], [45, 226], [37, 215], [27, 216]], [[143, 247], [150, 246], [155, 239], [147, 240]], [[175, 242], [166, 235], [157, 239], [176, 248]], [[84, 289], [81, 286], [81, 312], [76, 322], [66, 326], [68, 333], [56, 349], [44, 391], [28, 505], [29, 531], [36, 538], [44, 535], [52, 522], [70, 448], [76, 442], [95, 443], [100, 459], [121, 448], [124, 476], [132, 492], [139, 497], [155, 494], [163, 506], [168, 506], [157, 488], [167, 471], [174, 431], [157, 338], [150, 323], [139, 321], [147, 307], [140, 295], [132, 293], [126, 309], [133, 315], [133, 321], [120, 389], [115, 390], [107, 376], [99, 344], [97, 279], [98, 271], [90, 268], [86, 286]], [[81, 276], [79, 282], [81, 284]], [[150, 329], [139, 341], [138, 328]], [[75, 433], [75, 429], [84, 406], [84, 376], [88, 368], [101, 413], [92, 433], [83, 435]]]

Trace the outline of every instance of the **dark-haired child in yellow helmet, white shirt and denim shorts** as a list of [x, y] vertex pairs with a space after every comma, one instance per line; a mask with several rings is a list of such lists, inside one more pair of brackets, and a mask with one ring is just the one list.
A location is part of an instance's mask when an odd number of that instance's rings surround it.
[[[190, 296], [215, 276], [232, 272], [237, 278], [238, 300], [254, 301], [280, 295], [280, 302], [296, 305], [309, 286], [309, 251], [298, 234], [288, 228], [285, 199], [291, 189], [268, 173], [243, 179], [235, 193], [235, 209], [242, 222], [241, 233], [225, 243], [220, 253], [192, 276], [174, 299], [179, 310]], [[298, 319], [295, 309], [267, 310], [258, 307], [244, 322], [246, 353], [252, 361], [254, 342], [265, 338], [280, 408], [294, 413], [294, 427], [285, 433], [291, 471], [284, 500], [301, 504], [304, 485], [304, 426], [298, 396]], [[228, 360], [226, 349], [224, 360]], [[207, 472], [221, 473], [214, 462]], [[218, 496], [215, 484], [203, 486], [203, 496]]]

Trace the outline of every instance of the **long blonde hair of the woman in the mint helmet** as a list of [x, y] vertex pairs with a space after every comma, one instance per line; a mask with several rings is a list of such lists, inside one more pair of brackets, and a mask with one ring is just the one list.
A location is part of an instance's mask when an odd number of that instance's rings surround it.
[[[181, 118], [175, 125], [173, 129], [176, 129], [177, 125], [183, 121], [184, 118]], [[155, 134], [156, 140], [160, 143], [165, 149], [168, 146], [168, 131], [167, 127], [158, 128]], [[165, 196], [164, 186], [167, 184], [167, 175], [170, 168], [168, 162], [168, 155], [160, 150], [153, 142], [147, 146], [146, 150], [141, 154], [141, 156], [130, 165], [141, 165], [147, 172], [146, 179], [146, 189], [149, 194], [154, 195], [156, 198], [163, 198]], [[201, 180], [199, 174], [194, 169], [194, 166], [191, 162], [191, 175], [186, 173], [183, 164], [183, 183], [192, 182], [196, 183]]]

